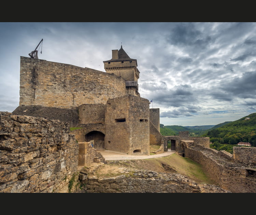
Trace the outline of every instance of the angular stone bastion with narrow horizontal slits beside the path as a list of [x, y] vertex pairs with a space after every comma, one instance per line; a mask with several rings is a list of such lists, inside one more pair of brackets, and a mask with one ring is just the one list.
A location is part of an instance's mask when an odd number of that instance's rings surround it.
[[105, 112], [105, 149], [133, 154], [149, 154], [150, 128], [148, 100], [138, 96], [109, 99]]

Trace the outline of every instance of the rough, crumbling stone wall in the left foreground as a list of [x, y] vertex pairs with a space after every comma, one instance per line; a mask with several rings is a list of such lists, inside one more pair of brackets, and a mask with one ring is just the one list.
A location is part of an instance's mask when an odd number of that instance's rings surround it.
[[79, 146], [67, 123], [0, 112], [0, 192], [67, 192]]

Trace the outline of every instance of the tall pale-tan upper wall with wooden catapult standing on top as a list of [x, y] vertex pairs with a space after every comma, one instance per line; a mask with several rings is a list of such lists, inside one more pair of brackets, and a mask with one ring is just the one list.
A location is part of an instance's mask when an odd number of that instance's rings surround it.
[[126, 95], [122, 77], [64, 63], [20, 57], [20, 105], [74, 108]]

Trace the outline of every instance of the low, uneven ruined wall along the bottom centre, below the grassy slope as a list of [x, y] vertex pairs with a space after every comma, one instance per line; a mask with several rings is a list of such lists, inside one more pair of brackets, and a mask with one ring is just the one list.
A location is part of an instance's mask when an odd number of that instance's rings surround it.
[[225, 193], [215, 185], [199, 185], [180, 174], [123, 169], [119, 176], [98, 178], [86, 172], [80, 174], [81, 184], [77, 192], [87, 193]]

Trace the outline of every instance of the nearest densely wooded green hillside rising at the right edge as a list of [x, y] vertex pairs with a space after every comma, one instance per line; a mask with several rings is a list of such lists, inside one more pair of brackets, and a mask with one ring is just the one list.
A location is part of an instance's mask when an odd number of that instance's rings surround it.
[[256, 147], [256, 113], [211, 129], [203, 136], [210, 137], [210, 142], [215, 144], [236, 145], [239, 142], [249, 142]]

